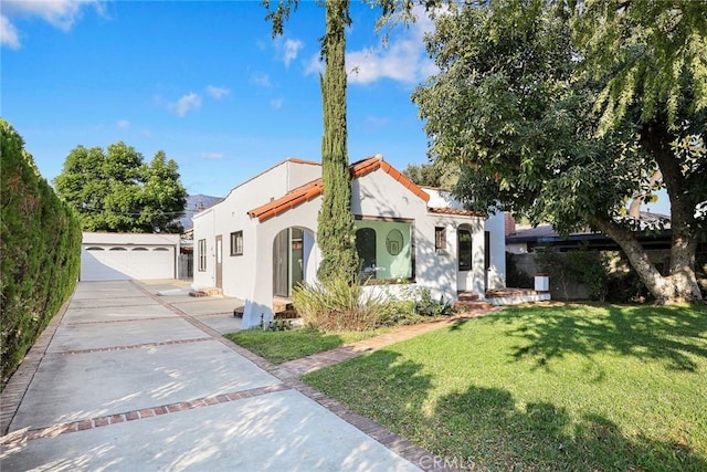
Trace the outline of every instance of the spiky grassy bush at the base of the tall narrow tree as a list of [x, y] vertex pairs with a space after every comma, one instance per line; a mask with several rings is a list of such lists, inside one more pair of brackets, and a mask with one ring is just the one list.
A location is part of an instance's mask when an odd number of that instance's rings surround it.
[[395, 311], [386, 295], [344, 277], [300, 285], [293, 291], [293, 302], [305, 326], [325, 332], [374, 329]]

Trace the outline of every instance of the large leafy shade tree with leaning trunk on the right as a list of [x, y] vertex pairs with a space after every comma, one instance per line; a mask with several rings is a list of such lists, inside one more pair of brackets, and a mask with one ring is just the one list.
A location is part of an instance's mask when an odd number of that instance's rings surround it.
[[[559, 231], [591, 227], [658, 301], [700, 300], [696, 218], [707, 198], [705, 2], [504, 0], [452, 6], [413, 94], [457, 196]], [[672, 203], [668, 275], [639, 243], [633, 200]]]

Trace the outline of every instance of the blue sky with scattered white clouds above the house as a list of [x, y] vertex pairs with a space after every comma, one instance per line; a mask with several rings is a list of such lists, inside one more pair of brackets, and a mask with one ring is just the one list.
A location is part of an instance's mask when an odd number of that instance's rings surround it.
[[[320, 161], [318, 38], [324, 10], [303, 1], [273, 40], [260, 1], [7, 1], [0, 11], [0, 114], [51, 180], [70, 151], [123, 140], [165, 150], [192, 193], [224, 196], [287, 158]], [[378, 10], [351, 2], [349, 159], [426, 161], [410, 95], [434, 72], [429, 20], [383, 48]]]

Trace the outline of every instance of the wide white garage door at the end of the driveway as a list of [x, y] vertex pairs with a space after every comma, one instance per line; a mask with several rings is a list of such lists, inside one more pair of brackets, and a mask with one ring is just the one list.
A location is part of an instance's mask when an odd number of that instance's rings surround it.
[[84, 245], [82, 281], [175, 277], [173, 247]]

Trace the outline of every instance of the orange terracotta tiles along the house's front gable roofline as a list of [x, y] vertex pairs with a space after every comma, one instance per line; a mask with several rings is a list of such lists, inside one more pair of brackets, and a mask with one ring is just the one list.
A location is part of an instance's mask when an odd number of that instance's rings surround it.
[[[383, 169], [388, 175], [398, 180], [403, 187], [412, 191], [414, 195], [423, 199], [430, 200], [430, 196], [425, 193], [420, 187], [414, 185], [412, 180], [403, 176], [390, 164], [386, 162], [380, 155], [369, 157], [358, 162], [351, 164], [349, 167], [352, 179], [363, 177], [374, 170]], [[249, 217], [257, 218], [261, 222], [284, 213], [285, 211], [298, 207], [299, 204], [309, 201], [321, 195], [324, 191], [324, 182], [319, 178], [302, 187], [298, 187], [287, 193], [284, 197], [270, 201], [263, 206], [260, 206], [247, 212]]]

